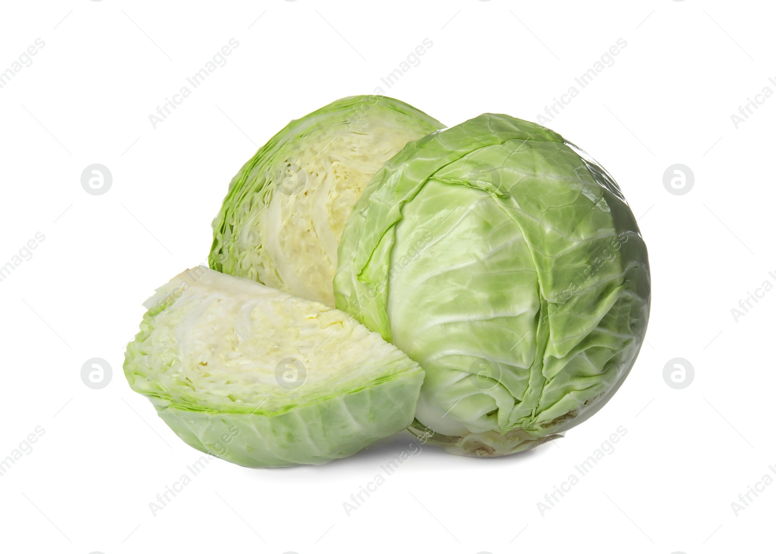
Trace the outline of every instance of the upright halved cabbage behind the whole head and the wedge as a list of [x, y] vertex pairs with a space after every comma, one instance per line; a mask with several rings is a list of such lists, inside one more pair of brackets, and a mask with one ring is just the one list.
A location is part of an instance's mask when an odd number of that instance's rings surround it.
[[296, 119], [229, 185], [210, 267], [334, 306], [345, 221], [372, 175], [442, 123], [386, 96], [350, 96]]

